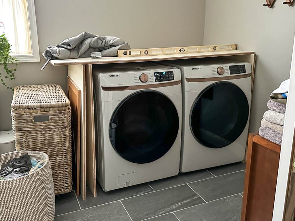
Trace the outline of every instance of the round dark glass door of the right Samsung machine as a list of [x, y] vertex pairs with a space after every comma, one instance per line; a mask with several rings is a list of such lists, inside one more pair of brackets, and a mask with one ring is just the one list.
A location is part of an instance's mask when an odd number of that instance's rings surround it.
[[230, 82], [217, 82], [196, 98], [190, 115], [191, 131], [199, 143], [222, 148], [243, 132], [249, 116], [245, 93]]

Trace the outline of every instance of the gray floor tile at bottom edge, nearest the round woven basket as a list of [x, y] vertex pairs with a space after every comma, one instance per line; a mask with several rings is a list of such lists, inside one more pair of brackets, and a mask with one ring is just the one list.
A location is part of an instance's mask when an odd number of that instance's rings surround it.
[[112, 202], [60, 216], [54, 221], [130, 221], [121, 202]]

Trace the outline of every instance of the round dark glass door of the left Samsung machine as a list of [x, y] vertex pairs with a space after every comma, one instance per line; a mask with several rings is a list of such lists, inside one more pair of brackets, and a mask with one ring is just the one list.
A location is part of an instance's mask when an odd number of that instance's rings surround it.
[[117, 153], [138, 164], [155, 161], [172, 147], [178, 113], [162, 93], [144, 90], [125, 98], [114, 111], [109, 136]]

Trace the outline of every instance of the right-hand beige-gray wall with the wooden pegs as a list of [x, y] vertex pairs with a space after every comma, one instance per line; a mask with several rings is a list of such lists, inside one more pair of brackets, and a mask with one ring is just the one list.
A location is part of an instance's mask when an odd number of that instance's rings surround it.
[[289, 78], [295, 7], [276, 1], [272, 9], [257, 0], [206, 0], [204, 44], [237, 43], [256, 52], [250, 132], [258, 131], [270, 93]]

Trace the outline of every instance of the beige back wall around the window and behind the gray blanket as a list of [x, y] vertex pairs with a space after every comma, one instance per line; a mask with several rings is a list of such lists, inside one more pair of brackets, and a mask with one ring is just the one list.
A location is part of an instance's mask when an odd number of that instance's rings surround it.
[[[185, 4], [184, 4], [185, 3]], [[203, 44], [205, 0], [35, 0], [40, 51], [47, 45], [88, 31], [118, 36], [132, 48]], [[60, 84], [66, 89], [66, 67], [21, 63], [10, 86]], [[0, 130], [11, 129], [12, 91], [0, 85]]]

